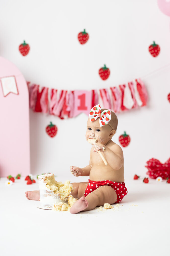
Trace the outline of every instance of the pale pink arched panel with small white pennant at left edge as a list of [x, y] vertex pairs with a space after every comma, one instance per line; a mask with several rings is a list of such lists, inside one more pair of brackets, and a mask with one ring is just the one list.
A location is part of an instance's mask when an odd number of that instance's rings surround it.
[[20, 70], [0, 57], [0, 176], [30, 173], [29, 94]]

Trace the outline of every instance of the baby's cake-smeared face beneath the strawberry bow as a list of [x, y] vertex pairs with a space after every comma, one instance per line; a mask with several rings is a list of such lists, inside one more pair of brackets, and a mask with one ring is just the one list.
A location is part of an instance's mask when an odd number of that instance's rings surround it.
[[106, 144], [112, 138], [111, 130], [108, 124], [100, 127], [99, 118], [93, 122], [88, 118], [86, 140], [96, 138], [98, 143]]

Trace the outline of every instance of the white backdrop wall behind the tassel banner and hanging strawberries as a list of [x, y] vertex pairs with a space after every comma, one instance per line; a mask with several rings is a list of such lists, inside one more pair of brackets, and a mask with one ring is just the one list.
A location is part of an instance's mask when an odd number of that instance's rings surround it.
[[[146, 76], [170, 63], [169, 25], [156, 0], [6, 0], [0, 10], [0, 55], [15, 63], [27, 81], [49, 88], [91, 90], [143, 78], [148, 105], [117, 114], [113, 140], [118, 143], [124, 131], [131, 137], [123, 149], [125, 179], [145, 176], [149, 158], [165, 162], [170, 157], [170, 66]], [[84, 28], [89, 40], [80, 45], [77, 34]], [[18, 50], [23, 40], [30, 45], [26, 57]], [[161, 48], [156, 58], [148, 51], [153, 40]], [[111, 71], [106, 81], [98, 75], [104, 64]], [[50, 121], [58, 127], [54, 138], [45, 132]], [[71, 179], [70, 165], [87, 165], [86, 121], [85, 114], [60, 120], [30, 110], [31, 173], [62, 173]]]

